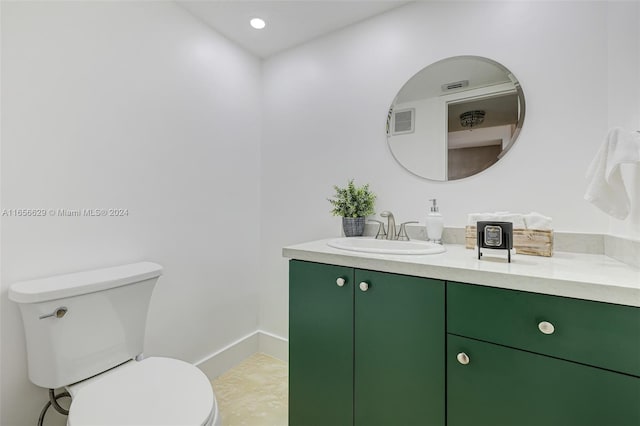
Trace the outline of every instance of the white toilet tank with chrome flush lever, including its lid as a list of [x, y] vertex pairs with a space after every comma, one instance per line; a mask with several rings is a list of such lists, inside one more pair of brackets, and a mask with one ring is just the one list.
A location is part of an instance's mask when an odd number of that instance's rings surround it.
[[13, 284], [9, 299], [20, 306], [29, 379], [59, 388], [141, 354], [161, 274], [160, 265], [140, 262]]

